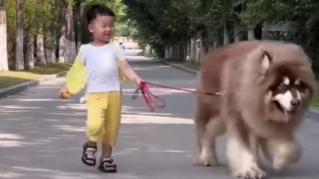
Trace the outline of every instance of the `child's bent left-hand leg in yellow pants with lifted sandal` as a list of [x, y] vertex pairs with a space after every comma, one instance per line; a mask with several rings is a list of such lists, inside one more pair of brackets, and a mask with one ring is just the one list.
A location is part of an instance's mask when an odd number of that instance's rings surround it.
[[96, 163], [95, 153], [97, 151], [97, 142], [103, 135], [103, 108], [100, 105], [98, 94], [89, 94], [86, 102], [87, 121], [86, 135], [88, 142], [83, 146], [82, 161], [88, 166], [94, 166]]

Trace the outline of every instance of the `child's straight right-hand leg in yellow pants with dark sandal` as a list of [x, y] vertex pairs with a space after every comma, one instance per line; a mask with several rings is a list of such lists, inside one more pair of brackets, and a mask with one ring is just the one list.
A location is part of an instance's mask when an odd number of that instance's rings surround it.
[[105, 111], [104, 120], [102, 157], [99, 168], [103, 172], [116, 172], [116, 164], [111, 159], [111, 155], [121, 124], [121, 94], [120, 92], [110, 92], [108, 97], [108, 108]]

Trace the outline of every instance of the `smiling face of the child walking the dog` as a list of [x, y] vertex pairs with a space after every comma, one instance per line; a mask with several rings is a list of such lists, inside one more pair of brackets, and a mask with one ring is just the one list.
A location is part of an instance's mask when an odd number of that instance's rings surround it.
[[114, 34], [114, 18], [112, 16], [97, 16], [89, 24], [89, 31], [94, 40], [109, 42]]

